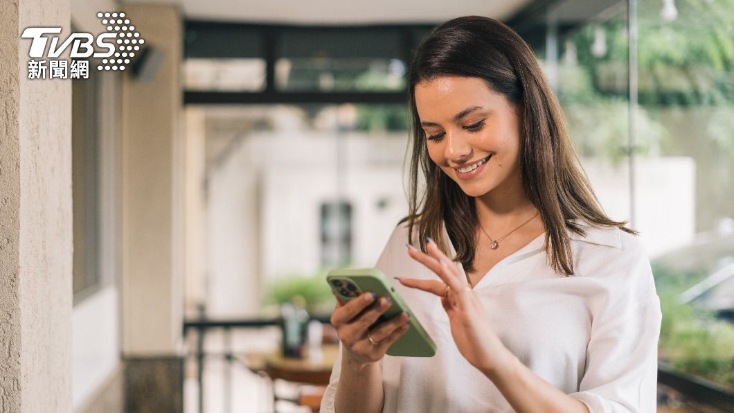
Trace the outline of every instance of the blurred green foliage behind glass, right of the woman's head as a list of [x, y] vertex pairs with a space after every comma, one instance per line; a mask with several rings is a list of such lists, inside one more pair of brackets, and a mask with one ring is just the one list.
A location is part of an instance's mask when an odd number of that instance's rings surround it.
[[[680, 155], [675, 148], [696, 138], [707, 162], [697, 170], [699, 182], [722, 182], [727, 187], [731, 182], [727, 165], [734, 159], [734, 0], [676, 4], [675, 21], [661, 18], [659, 1], [639, 4], [636, 154]], [[558, 72], [559, 98], [579, 153], [614, 165], [624, 159], [622, 148], [628, 144], [629, 48], [624, 17], [620, 13], [569, 32], [564, 42], [575, 46], [575, 63], [562, 59]], [[592, 44], [599, 29], [606, 37], [606, 53], [597, 57]], [[661, 123], [661, 113], [680, 107], [683, 116], [700, 115], [685, 110], [701, 106], [711, 110], [695, 136], [668, 130]], [[665, 150], [670, 147], [674, 149]]]

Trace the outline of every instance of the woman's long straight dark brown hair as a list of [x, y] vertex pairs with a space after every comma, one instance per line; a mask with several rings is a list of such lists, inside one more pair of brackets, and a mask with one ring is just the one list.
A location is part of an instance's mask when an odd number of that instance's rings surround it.
[[[454, 261], [461, 262], [467, 272], [474, 270], [476, 204], [429, 158], [415, 107], [415, 85], [439, 76], [479, 77], [517, 105], [522, 120], [519, 168], [523, 190], [545, 224], [544, 248], [550, 249], [548, 265], [556, 273], [573, 275], [567, 229], [586, 235], [582, 226], [569, 220], [578, 218], [590, 226], [616, 226], [637, 234], [625, 228], [627, 221], [611, 220], [601, 209], [573, 150], [559, 102], [527, 43], [499, 21], [466, 16], [433, 29], [410, 61], [410, 199], [408, 215], [400, 221], [408, 221], [409, 242], [417, 225], [421, 251], [426, 251], [426, 236], [448, 251], [442, 236], [443, 220], [457, 251]], [[425, 178], [420, 194], [418, 169]]]

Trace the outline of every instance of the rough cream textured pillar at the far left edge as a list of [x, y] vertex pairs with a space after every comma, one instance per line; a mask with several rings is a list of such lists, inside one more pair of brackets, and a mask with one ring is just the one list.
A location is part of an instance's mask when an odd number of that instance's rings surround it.
[[68, 0], [0, 1], [0, 412], [71, 411], [71, 84], [28, 79], [27, 26]]

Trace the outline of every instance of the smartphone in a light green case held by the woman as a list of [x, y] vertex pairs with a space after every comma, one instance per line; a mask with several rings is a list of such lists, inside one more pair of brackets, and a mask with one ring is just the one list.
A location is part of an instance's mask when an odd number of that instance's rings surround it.
[[436, 353], [435, 343], [382, 271], [377, 268], [331, 270], [326, 281], [342, 303], [359, 297], [363, 292], [374, 292], [377, 298], [390, 297], [392, 305], [372, 326], [390, 320], [404, 311], [410, 312], [410, 328], [390, 345], [386, 352], [390, 356], [431, 357]]

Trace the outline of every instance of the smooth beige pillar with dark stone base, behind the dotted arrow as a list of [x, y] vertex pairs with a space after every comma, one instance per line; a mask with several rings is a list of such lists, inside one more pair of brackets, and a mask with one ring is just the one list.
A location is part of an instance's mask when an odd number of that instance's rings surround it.
[[122, 87], [122, 316], [126, 411], [183, 403], [183, 24], [171, 5], [127, 4], [145, 46], [162, 56], [150, 79]]

